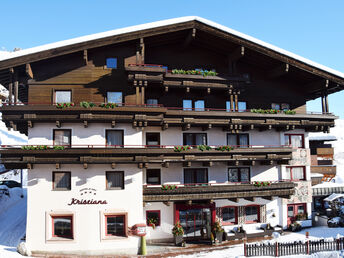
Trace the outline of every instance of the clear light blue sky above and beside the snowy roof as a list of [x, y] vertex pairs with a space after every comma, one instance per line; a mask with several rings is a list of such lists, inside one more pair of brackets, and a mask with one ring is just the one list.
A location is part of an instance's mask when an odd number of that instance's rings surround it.
[[[0, 50], [197, 15], [344, 72], [343, 0], [11, 0], [0, 10]], [[344, 91], [329, 103], [344, 118]], [[321, 111], [320, 100], [307, 108]]]

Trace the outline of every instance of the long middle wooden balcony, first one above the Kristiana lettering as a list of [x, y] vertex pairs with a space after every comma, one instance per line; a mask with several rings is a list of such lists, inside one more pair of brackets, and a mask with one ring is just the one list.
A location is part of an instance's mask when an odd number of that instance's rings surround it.
[[2, 146], [0, 162], [8, 169], [32, 168], [33, 164], [136, 164], [139, 168], [148, 164], [160, 164], [168, 167], [169, 163], [182, 163], [189, 167], [193, 162], [201, 162], [204, 166], [212, 166], [214, 162], [228, 162], [232, 165], [254, 165], [259, 162], [272, 165], [274, 162], [288, 164], [292, 159], [290, 147], [247, 147], [234, 148], [231, 151], [201, 151], [192, 148], [178, 152], [172, 146], [158, 148], [114, 147], [86, 145], [63, 150], [47, 146], [44, 150], [25, 150], [17, 146]]

